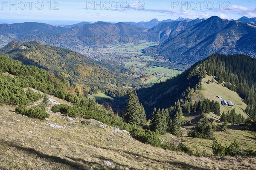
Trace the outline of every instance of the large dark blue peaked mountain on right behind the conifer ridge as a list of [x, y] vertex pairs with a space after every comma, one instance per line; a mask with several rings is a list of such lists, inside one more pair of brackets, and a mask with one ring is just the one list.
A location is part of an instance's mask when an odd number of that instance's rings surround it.
[[171, 35], [160, 45], [144, 49], [144, 52], [173, 62], [193, 64], [216, 53], [256, 57], [255, 42], [256, 26], [212, 16]]

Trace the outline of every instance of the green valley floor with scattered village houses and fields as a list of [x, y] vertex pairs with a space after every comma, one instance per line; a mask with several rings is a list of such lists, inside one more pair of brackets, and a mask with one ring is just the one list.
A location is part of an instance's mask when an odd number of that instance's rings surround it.
[[[133, 71], [134, 77], [146, 76], [143, 83], [155, 83], [173, 78], [182, 71], [177, 70], [177, 63], [170, 62], [161, 56], [146, 56], [143, 48], [157, 45], [156, 42], [140, 41], [137, 44], [124, 43], [119, 45], [108, 45], [103, 48], [88, 48], [80, 51], [87, 57], [98, 62], [103, 60], [116, 62]], [[185, 65], [184, 67], [189, 67]]]

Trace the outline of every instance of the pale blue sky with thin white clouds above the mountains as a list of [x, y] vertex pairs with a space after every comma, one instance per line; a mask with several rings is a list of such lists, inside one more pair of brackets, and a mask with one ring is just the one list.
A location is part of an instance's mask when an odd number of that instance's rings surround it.
[[122, 22], [183, 18], [256, 17], [256, 0], [0, 0], [0, 23]]

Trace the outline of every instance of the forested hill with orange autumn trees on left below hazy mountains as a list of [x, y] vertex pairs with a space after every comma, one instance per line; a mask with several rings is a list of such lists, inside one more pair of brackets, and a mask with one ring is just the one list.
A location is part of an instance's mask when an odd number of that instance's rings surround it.
[[84, 94], [105, 92], [112, 86], [136, 85], [126, 72], [110, 71], [94, 60], [65, 48], [38, 42], [11, 42], [0, 51], [26, 65], [44, 68], [65, 79], [68, 85], [81, 85], [80, 90]]

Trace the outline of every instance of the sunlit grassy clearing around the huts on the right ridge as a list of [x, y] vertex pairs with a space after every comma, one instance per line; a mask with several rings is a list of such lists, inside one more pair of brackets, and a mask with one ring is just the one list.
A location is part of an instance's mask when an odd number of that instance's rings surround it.
[[[217, 97], [218, 95], [221, 95], [224, 98], [224, 100], [231, 100], [233, 102], [233, 108], [236, 110], [236, 113], [241, 113], [242, 115], [244, 115], [245, 118], [248, 117], [247, 114], [244, 112], [247, 105], [243, 102], [243, 99], [236, 92], [229, 90], [223, 85], [219, 85], [216, 80], [213, 83], [210, 82], [210, 84], [207, 84], [206, 82], [208, 81], [208, 79], [211, 81], [212, 77], [206, 76], [204, 79], [202, 79], [202, 86], [204, 90], [196, 91], [193, 94], [193, 101], [208, 98], [210, 100], [213, 99], [217, 102], [221, 102], [223, 99], [219, 99]], [[221, 113], [223, 111], [227, 113], [227, 111], [231, 110], [232, 108], [221, 105]]]

